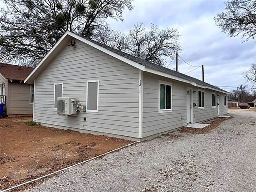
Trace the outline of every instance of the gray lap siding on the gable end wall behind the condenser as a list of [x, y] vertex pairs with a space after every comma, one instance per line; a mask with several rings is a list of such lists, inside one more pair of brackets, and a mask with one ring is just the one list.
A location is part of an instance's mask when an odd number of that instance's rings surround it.
[[[54, 110], [54, 83], [63, 83], [63, 97], [86, 105], [86, 82], [99, 80], [98, 112], [60, 116]], [[64, 129], [138, 137], [139, 70], [76, 41], [35, 79], [34, 120]], [[86, 121], [83, 118], [86, 117]]]

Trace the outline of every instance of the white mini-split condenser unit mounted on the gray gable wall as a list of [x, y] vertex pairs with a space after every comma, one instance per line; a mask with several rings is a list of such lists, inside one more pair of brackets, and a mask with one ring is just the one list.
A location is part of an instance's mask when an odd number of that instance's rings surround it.
[[76, 110], [74, 107], [74, 105], [76, 105], [75, 98], [58, 97], [57, 102], [58, 115], [76, 115]]

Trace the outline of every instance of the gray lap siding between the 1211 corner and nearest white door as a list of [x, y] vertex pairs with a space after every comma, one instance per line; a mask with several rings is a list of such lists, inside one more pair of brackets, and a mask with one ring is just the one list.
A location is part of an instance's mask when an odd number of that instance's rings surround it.
[[[172, 84], [172, 112], [158, 112], [159, 80]], [[187, 85], [185, 83], [144, 72], [143, 137], [156, 135], [186, 125], [186, 90]]]

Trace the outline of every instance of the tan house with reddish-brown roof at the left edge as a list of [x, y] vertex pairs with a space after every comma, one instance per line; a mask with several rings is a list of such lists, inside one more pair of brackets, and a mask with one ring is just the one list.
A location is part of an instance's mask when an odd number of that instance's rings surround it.
[[33, 114], [33, 85], [24, 83], [32, 71], [31, 67], [0, 63], [0, 103], [6, 102], [7, 115]]

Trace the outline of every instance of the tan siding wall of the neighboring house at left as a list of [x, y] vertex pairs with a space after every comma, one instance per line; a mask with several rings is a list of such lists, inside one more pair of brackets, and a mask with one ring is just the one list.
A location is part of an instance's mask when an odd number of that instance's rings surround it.
[[7, 114], [33, 114], [33, 104], [30, 104], [30, 85], [9, 82], [9, 103]]

